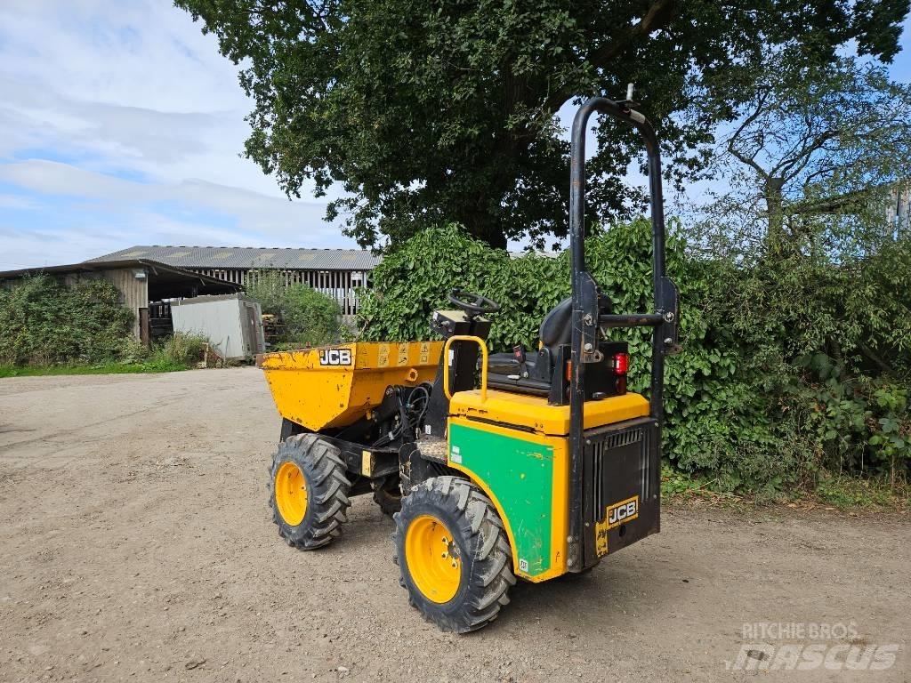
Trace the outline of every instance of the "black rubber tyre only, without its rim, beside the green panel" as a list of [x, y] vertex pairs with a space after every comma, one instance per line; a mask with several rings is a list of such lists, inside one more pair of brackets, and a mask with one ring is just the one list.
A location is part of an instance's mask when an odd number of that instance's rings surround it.
[[[428, 513], [449, 527], [462, 557], [458, 592], [442, 605], [426, 598], [415, 586], [404, 556], [408, 524]], [[476, 484], [449, 475], [431, 477], [404, 496], [402, 510], [393, 519], [393, 560], [399, 566], [399, 585], [408, 591], [412, 607], [450, 633], [475, 631], [496, 619], [500, 608], [509, 603], [509, 588], [516, 585], [516, 576], [503, 522]]]

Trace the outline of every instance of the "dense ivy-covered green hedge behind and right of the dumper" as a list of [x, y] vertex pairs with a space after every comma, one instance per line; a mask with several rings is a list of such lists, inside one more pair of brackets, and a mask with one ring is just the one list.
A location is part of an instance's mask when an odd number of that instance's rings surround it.
[[[773, 491], [823, 470], [906, 472], [911, 455], [911, 256], [885, 245], [850, 263], [801, 253], [745, 265], [691, 256], [672, 225], [668, 270], [681, 294], [681, 354], [667, 364], [664, 454], [718, 488]], [[617, 312], [650, 311], [645, 220], [587, 243], [589, 268]], [[430, 335], [455, 286], [498, 301], [489, 344], [537, 346], [537, 327], [569, 295], [569, 260], [511, 258], [457, 226], [429, 229], [386, 256], [366, 292], [366, 339]], [[648, 332], [628, 339], [630, 388], [648, 393]]]

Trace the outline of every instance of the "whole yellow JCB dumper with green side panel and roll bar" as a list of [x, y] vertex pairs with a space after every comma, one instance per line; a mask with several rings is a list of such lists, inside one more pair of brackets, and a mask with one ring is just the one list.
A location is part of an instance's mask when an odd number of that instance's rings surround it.
[[[302, 549], [341, 533], [350, 497], [393, 514], [409, 602], [445, 631], [486, 626], [517, 579], [581, 574], [660, 529], [664, 357], [677, 291], [664, 272], [657, 139], [630, 102], [603, 98], [573, 125], [572, 297], [534, 350], [490, 353], [499, 306], [456, 289], [430, 327], [444, 342], [351, 343], [261, 357], [282, 417], [270, 504]], [[614, 313], [585, 260], [585, 131], [594, 112], [636, 127], [649, 154], [655, 310]], [[521, 292], [517, 292], [521, 296]], [[627, 391], [629, 345], [652, 329], [650, 396]]]

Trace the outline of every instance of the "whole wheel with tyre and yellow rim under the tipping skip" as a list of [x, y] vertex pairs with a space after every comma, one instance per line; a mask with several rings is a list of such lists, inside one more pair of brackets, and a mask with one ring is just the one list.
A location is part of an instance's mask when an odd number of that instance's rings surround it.
[[288, 545], [312, 550], [342, 533], [351, 482], [341, 452], [319, 434], [297, 434], [272, 457], [269, 505]]

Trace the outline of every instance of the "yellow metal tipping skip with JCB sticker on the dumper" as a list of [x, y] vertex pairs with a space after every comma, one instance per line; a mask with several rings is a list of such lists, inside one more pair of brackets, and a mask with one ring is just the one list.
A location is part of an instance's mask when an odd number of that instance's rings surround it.
[[353, 342], [264, 353], [281, 417], [312, 431], [352, 424], [383, 402], [387, 386], [434, 379], [443, 342]]

